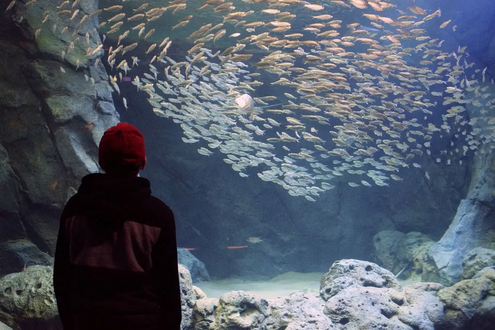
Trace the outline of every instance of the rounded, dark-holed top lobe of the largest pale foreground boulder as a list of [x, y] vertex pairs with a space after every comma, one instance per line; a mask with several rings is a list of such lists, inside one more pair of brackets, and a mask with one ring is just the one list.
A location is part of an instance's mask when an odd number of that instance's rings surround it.
[[399, 289], [394, 274], [377, 264], [344, 259], [333, 263], [320, 283], [320, 296], [324, 301], [348, 287], [377, 287]]

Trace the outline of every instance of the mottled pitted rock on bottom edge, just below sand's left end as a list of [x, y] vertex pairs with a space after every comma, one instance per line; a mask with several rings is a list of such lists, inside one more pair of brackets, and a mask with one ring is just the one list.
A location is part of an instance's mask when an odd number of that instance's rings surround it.
[[230, 291], [218, 300], [215, 330], [265, 330], [268, 301], [247, 291]]

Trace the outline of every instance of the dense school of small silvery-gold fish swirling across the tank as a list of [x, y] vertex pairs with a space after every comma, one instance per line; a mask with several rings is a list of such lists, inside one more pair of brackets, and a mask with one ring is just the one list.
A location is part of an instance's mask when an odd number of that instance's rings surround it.
[[[131, 77], [136, 92], [148, 94], [154, 113], [179, 124], [182, 140], [197, 143], [199, 154], [222, 153], [240, 176], [257, 172], [293, 196], [314, 202], [334, 188], [337, 176], [351, 187], [388, 186], [390, 179], [402, 180], [399, 170], [420, 169], [424, 154], [462, 164], [481, 144], [495, 147], [494, 80], [487, 68], [473, 67], [466, 47], [444, 50], [444, 40], [421, 27], [436, 19], [441, 29], [454, 32], [440, 9], [428, 12], [393, 0], [242, 0], [256, 9], [236, 11], [241, 0], [174, 0], [136, 6], [125, 1], [85, 13], [79, 1], [60, 1], [45, 12], [47, 28], [72, 34], [62, 60], [80, 41], [83, 22], [99, 17], [103, 42], [120, 34], [117, 44], [105, 51], [86, 33], [87, 56], [76, 69], [102, 58], [112, 68], [115, 93], [123, 77]], [[6, 10], [14, 5], [15, 0]], [[343, 24], [333, 16], [339, 7], [361, 11], [362, 19]], [[222, 22], [202, 21], [188, 37], [187, 54], [167, 54], [174, 30], [191, 24], [196, 11]], [[310, 21], [293, 29], [303, 12]], [[53, 15], [75, 23], [50, 26]], [[174, 23], [155, 42], [161, 19]], [[40, 33], [41, 28], [34, 38]], [[218, 49], [219, 41], [230, 46]], [[143, 54], [133, 53], [139, 43], [146, 43]], [[140, 61], [149, 71], [133, 75]], [[240, 106], [249, 100], [254, 107]], [[123, 104], [128, 109], [125, 98]], [[476, 111], [468, 114], [468, 106]], [[434, 117], [441, 122], [433, 124]], [[442, 139], [450, 147], [434, 148]]]

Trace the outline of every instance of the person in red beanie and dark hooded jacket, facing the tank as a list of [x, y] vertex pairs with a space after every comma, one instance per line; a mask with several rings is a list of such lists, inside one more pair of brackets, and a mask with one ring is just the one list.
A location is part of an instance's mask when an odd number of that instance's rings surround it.
[[139, 176], [146, 161], [136, 127], [110, 127], [105, 173], [84, 176], [62, 211], [53, 288], [64, 330], [180, 329], [175, 220]]

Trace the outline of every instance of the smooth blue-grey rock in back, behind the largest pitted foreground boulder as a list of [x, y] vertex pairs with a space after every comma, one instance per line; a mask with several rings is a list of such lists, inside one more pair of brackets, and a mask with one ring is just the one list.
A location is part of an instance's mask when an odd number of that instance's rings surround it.
[[383, 267], [397, 273], [403, 267], [403, 260], [399, 257], [406, 235], [396, 230], [383, 230], [373, 236], [373, 252]]

